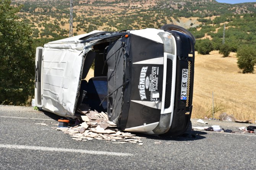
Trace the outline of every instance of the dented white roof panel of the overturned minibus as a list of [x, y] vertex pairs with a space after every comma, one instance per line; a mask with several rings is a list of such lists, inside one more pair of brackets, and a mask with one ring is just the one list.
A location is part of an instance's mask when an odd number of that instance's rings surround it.
[[72, 117], [83, 57], [80, 50], [44, 48], [42, 66], [43, 109]]

